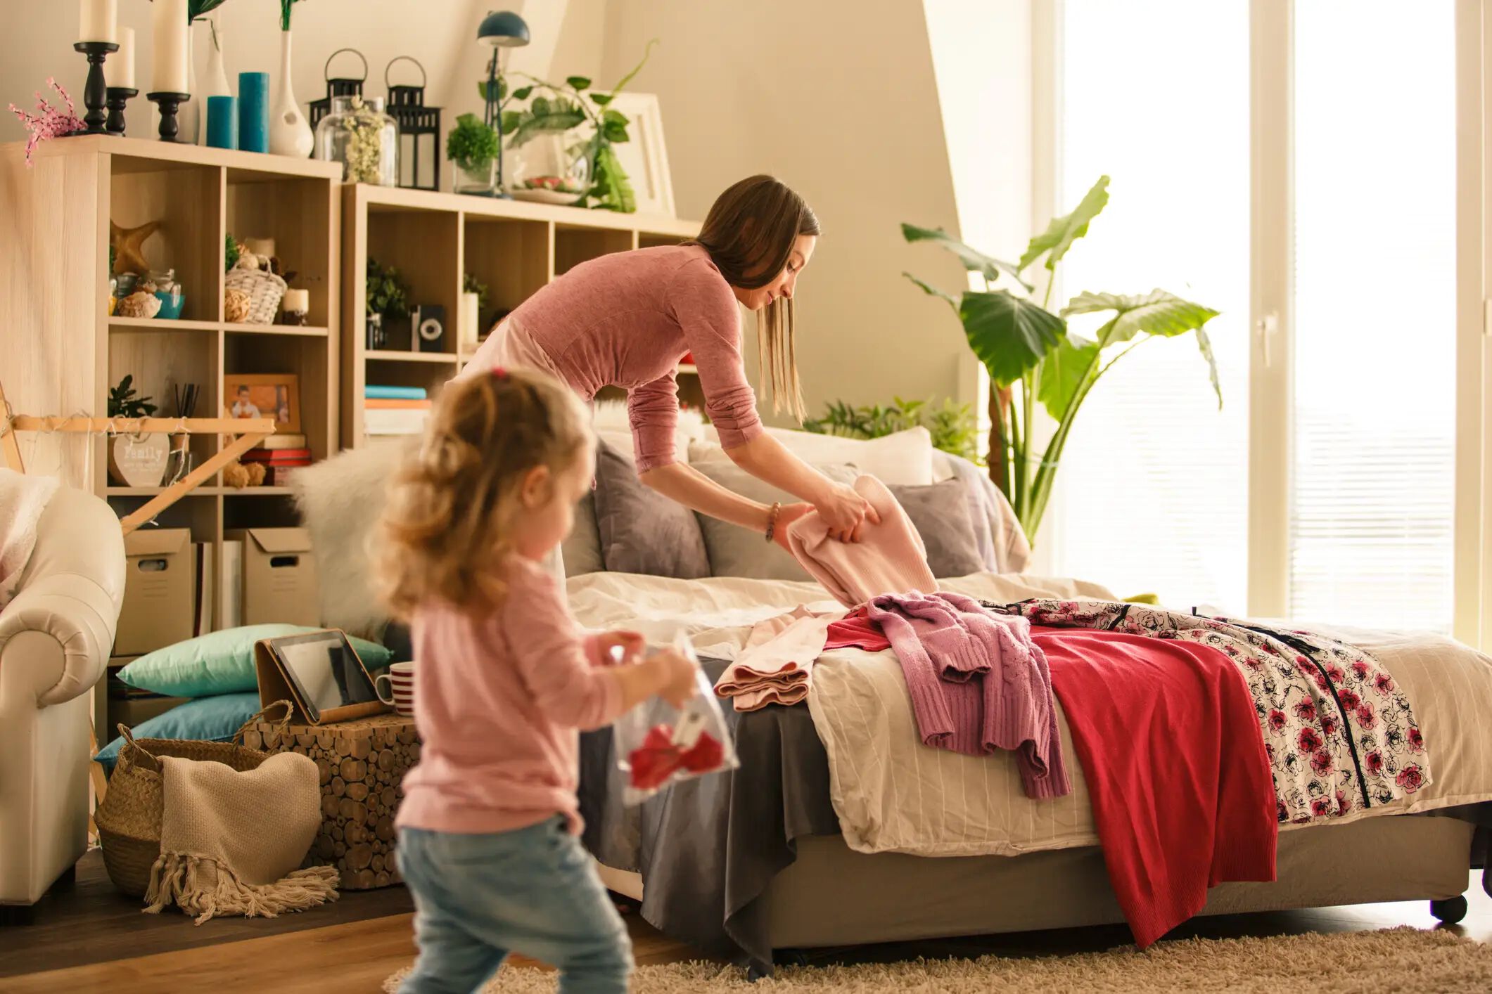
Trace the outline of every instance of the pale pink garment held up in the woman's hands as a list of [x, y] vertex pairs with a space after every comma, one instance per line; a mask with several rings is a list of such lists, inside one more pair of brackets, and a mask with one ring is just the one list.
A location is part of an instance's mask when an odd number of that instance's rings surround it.
[[788, 547], [803, 568], [846, 608], [882, 593], [937, 590], [927, 545], [886, 484], [862, 475], [855, 480], [855, 492], [876, 508], [880, 523], [865, 522], [861, 541], [841, 542], [830, 538], [816, 511], [804, 514], [788, 526]]

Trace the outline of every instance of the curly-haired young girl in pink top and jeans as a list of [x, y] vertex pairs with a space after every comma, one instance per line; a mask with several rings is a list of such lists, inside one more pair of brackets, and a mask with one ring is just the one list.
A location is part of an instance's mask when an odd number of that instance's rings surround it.
[[677, 653], [636, 657], [634, 632], [582, 636], [540, 565], [591, 486], [574, 393], [512, 370], [446, 384], [382, 520], [382, 595], [409, 618], [415, 723], [398, 867], [419, 960], [403, 994], [474, 991], [509, 952], [552, 963], [560, 990], [621, 993], [631, 943], [577, 835], [577, 729], [695, 687]]

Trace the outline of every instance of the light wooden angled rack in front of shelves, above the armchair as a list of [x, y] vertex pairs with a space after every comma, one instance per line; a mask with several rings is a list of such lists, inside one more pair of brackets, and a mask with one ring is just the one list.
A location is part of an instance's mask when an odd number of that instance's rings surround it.
[[88, 435], [237, 435], [203, 460], [200, 466], [119, 519], [125, 535], [155, 519], [157, 514], [201, 486], [203, 480], [215, 475], [275, 434], [275, 419], [272, 417], [34, 417], [13, 414], [10, 402], [4, 396], [4, 384], [0, 384], [0, 410], [4, 411], [4, 422], [0, 422], [0, 459], [16, 472], [25, 472], [21, 446], [15, 440], [18, 431]]

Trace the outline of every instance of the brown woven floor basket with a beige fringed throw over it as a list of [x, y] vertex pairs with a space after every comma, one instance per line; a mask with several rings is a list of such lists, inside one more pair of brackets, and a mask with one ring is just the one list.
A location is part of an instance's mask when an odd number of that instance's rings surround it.
[[269, 759], [267, 753], [243, 745], [243, 733], [275, 708], [283, 706], [285, 717], [276, 724], [283, 730], [294, 709], [289, 700], [276, 700], [243, 723], [231, 742], [201, 742], [195, 739], [136, 739], [130, 729], [119, 726], [124, 748], [109, 778], [109, 788], [94, 812], [103, 864], [113, 885], [131, 897], [143, 897], [151, 879], [151, 867], [161, 854], [161, 762], [163, 756], [197, 762], [215, 762], [239, 772], [255, 769]]

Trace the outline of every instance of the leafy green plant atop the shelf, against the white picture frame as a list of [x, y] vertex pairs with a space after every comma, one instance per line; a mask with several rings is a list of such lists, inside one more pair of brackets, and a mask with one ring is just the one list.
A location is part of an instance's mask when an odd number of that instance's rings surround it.
[[[622, 91], [648, 64], [652, 46], [656, 39], [648, 42], [643, 58], [630, 73], [612, 86], [607, 92], [597, 92], [591, 88], [586, 76], [568, 76], [562, 85], [549, 83], [536, 76], [521, 73], [528, 82], [512, 94], [507, 92], [507, 80], [497, 80], [498, 101], [507, 106], [509, 98], [524, 101], [528, 106], [518, 110], [503, 110], [503, 134], [509, 136], [509, 148], [521, 148], [540, 134], [562, 134], [565, 131], [589, 125], [592, 133], [588, 139], [577, 136], [576, 156], [583, 156], [589, 162], [589, 188], [585, 191], [585, 203], [589, 207], [616, 210], [625, 215], [637, 210], [637, 195], [633, 191], [627, 170], [622, 168], [616, 151], [612, 148], [630, 140], [627, 125], [630, 119], [616, 107], [609, 106], [616, 94]], [[477, 83], [482, 98], [486, 98], [486, 82]], [[536, 91], [539, 91], [536, 94]]]

